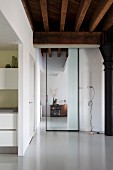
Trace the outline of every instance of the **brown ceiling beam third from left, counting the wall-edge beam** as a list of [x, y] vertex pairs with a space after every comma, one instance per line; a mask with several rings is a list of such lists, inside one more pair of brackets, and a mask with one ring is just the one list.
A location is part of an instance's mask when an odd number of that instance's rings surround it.
[[60, 31], [64, 31], [68, 0], [62, 0]]

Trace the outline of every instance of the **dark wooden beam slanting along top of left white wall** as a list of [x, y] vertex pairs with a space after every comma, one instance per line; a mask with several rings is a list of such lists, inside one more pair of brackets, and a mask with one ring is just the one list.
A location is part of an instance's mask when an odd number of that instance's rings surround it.
[[32, 18], [32, 14], [31, 14], [31, 11], [30, 11], [28, 1], [27, 0], [21, 0], [21, 1], [22, 1], [23, 6], [24, 6], [25, 12], [27, 14], [27, 17], [28, 17], [29, 23], [31, 25], [31, 28], [34, 31], [33, 18]]

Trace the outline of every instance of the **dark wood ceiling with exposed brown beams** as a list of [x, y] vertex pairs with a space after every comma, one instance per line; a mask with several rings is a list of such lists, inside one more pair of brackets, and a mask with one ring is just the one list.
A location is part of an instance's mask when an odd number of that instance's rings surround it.
[[[60, 44], [58, 37], [61, 37], [61, 32], [75, 34], [75, 42], [67, 40], [66, 44], [96, 44], [99, 42], [98, 36], [103, 31], [111, 29], [113, 25], [113, 0], [22, 0], [22, 2], [34, 32], [34, 44], [40, 42], [50, 44], [51, 32], [56, 32], [57, 36], [57, 41], [53, 44]], [[42, 32], [48, 37], [48, 41], [42, 41]], [[65, 35], [62, 33], [64, 39]], [[94, 35], [97, 41], [93, 41]], [[78, 40], [75, 37], [78, 37]], [[88, 42], [87, 37], [90, 39]], [[55, 35], [53, 38], [56, 40]], [[51, 49], [48, 51], [51, 55]]]

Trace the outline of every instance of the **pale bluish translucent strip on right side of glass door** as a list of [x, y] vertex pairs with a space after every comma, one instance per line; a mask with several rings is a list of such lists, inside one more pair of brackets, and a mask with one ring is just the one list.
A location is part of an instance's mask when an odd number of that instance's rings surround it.
[[69, 49], [68, 57], [68, 129], [78, 130], [78, 50]]

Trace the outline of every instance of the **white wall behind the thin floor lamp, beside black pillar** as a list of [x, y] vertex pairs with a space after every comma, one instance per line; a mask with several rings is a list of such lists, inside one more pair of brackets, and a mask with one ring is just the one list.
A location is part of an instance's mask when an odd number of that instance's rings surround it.
[[90, 131], [90, 107], [88, 101], [93, 100], [92, 125], [94, 131], [104, 131], [104, 66], [99, 49], [80, 49], [80, 130]]

